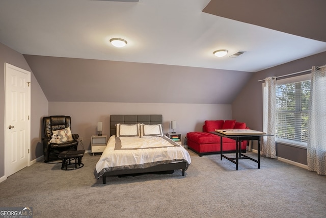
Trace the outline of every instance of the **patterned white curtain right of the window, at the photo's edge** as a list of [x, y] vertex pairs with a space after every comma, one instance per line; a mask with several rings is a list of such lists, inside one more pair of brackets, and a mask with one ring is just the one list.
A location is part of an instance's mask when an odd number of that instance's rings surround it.
[[312, 67], [307, 160], [309, 171], [326, 175], [326, 67]]

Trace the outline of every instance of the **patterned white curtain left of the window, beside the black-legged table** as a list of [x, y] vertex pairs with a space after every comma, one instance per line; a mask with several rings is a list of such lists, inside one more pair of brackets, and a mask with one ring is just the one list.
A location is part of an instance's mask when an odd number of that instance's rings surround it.
[[267, 77], [264, 82], [264, 124], [263, 132], [274, 135], [262, 137], [262, 154], [276, 158], [275, 148], [275, 107], [276, 107], [276, 79]]

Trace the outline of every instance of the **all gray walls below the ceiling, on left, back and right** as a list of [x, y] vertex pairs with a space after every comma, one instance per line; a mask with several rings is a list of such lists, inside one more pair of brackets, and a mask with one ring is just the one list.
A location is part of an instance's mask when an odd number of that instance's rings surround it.
[[[183, 134], [187, 132], [201, 131], [206, 119], [236, 119], [246, 122], [256, 130], [262, 130], [262, 85], [257, 80], [268, 76], [280, 76], [291, 72], [310, 69], [313, 65], [326, 64], [326, 53], [321, 53], [301, 60], [293, 61], [277, 67], [266, 69], [253, 74], [249, 82], [242, 88], [234, 102], [231, 104], [178, 104], [178, 103], [115, 103], [115, 102], [48, 102], [44, 92], [34, 76], [33, 71], [24, 57], [0, 43], [0, 123], [5, 122], [5, 77], [4, 63], [10, 63], [22, 69], [31, 71], [31, 160], [42, 156], [42, 130], [41, 120], [46, 115], [71, 115], [72, 130], [84, 139], [84, 148], [90, 149], [90, 137], [96, 134], [97, 122], [103, 122], [103, 134], [108, 134], [108, 122], [110, 114], [163, 114], [165, 132], [171, 131], [170, 121], [176, 120], [176, 131]], [[178, 68], [178, 67], [177, 67]], [[40, 73], [40, 72], [38, 72]], [[199, 72], [200, 73], [200, 72]], [[242, 79], [247, 79], [247, 72]], [[78, 71], [72, 74], [78, 75]], [[236, 79], [236, 78], [235, 78]], [[78, 83], [72, 83], [70, 89], [77, 87]], [[93, 95], [96, 93], [92, 93]], [[209, 94], [209, 93], [207, 93]], [[4, 125], [0, 126], [0, 180], [5, 175], [4, 167]], [[81, 146], [81, 145], [80, 145]], [[306, 164], [305, 149], [288, 147], [277, 144], [277, 155], [286, 159]]]

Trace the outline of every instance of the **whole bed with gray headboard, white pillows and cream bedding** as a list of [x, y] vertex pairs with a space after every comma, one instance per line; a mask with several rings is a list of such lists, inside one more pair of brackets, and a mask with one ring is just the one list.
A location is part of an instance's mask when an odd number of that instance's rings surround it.
[[182, 170], [189, 153], [163, 134], [162, 115], [111, 115], [110, 138], [96, 163], [94, 176], [106, 177]]

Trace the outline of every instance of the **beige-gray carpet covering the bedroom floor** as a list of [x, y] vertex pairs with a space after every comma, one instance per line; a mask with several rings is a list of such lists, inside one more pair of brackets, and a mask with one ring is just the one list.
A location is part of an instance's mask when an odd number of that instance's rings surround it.
[[235, 171], [220, 155], [189, 153], [185, 177], [176, 171], [106, 184], [93, 175], [99, 155], [85, 154], [75, 171], [37, 162], [0, 183], [0, 207], [33, 207], [33, 217], [326, 217], [326, 176], [264, 157], [260, 169], [241, 160]]

